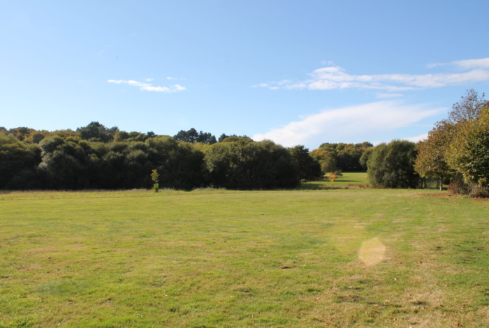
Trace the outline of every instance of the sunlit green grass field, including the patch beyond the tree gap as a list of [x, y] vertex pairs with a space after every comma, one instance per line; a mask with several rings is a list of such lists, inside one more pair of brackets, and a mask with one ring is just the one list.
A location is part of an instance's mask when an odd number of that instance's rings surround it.
[[489, 327], [488, 210], [432, 190], [1, 193], [0, 327]]

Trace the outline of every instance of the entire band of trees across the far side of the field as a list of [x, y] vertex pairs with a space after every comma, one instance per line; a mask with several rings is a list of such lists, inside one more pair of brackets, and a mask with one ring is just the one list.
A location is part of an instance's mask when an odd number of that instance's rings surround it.
[[76, 131], [0, 127], [0, 189], [295, 188], [329, 172], [367, 171], [371, 186], [423, 188], [427, 179], [452, 191], [489, 195], [489, 102], [474, 90], [415, 144], [376, 147], [323, 143], [285, 148], [246, 135], [179, 131], [173, 137], [126, 132], [92, 122]]

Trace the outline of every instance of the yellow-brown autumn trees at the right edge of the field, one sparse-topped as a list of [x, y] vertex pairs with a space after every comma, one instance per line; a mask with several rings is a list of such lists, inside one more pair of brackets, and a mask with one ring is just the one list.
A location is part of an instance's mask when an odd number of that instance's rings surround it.
[[421, 177], [453, 181], [455, 193], [489, 195], [489, 101], [484, 94], [468, 90], [416, 151], [414, 167]]

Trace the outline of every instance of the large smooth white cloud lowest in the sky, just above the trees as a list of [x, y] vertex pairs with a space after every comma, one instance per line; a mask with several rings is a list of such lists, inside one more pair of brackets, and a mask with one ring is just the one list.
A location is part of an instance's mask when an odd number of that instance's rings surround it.
[[273, 128], [268, 133], [254, 135], [253, 139], [270, 139], [286, 147], [321, 142], [374, 140], [388, 131], [432, 117], [441, 110], [444, 109], [384, 100], [325, 110], [300, 121], [293, 121], [282, 128]]

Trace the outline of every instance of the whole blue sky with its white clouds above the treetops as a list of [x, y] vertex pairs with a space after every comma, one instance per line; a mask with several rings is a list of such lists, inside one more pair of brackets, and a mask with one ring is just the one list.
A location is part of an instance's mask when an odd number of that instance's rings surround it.
[[0, 126], [418, 140], [489, 91], [489, 1], [2, 1]]

